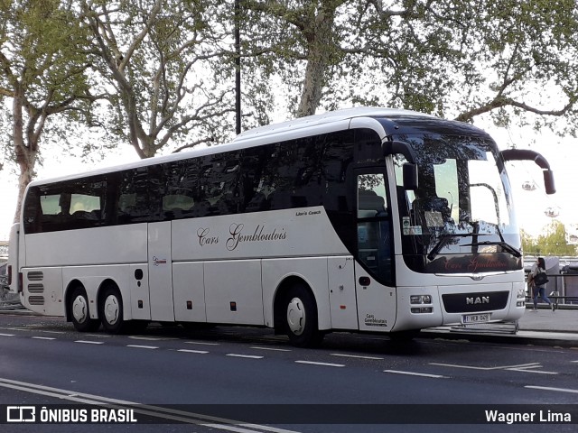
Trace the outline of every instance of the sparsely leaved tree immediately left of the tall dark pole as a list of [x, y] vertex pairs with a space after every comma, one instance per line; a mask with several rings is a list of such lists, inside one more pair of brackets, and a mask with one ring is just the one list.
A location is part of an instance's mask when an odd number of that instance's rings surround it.
[[230, 132], [223, 120], [234, 107], [234, 80], [222, 67], [230, 55], [217, 18], [221, 2], [80, 3], [98, 72], [109, 83], [111, 134], [147, 158]]

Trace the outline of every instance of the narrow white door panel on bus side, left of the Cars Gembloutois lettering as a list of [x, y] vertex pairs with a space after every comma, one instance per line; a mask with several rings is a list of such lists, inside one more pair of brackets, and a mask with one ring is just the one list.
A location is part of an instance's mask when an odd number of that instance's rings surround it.
[[151, 320], [174, 321], [170, 221], [148, 225], [148, 283]]

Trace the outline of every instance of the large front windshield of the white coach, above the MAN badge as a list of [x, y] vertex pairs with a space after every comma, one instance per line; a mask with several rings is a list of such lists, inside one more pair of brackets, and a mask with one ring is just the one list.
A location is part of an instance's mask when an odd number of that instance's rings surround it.
[[[398, 188], [406, 264], [428, 273], [520, 269], [519, 227], [496, 144], [449, 134], [402, 139], [419, 167], [418, 189]], [[404, 161], [396, 156], [398, 186]]]

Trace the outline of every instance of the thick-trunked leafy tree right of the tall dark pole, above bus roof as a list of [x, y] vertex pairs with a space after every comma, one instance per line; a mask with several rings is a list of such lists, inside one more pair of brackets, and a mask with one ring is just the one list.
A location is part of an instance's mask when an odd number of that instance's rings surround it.
[[280, 80], [294, 115], [378, 105], [576, 133], [573, 0], [241, 5], [244, 70]]

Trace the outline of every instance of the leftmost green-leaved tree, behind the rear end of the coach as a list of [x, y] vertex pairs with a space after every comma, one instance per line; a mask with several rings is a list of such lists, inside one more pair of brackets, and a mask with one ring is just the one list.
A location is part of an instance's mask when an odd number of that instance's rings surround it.
[[74, 8], [58, 0], [2, 1], [0, 16], [0, 96], [12, 108], [0, 123], [9, 141], [0, 143], [18, 167], [20, 203], [42, 161], [41, 143], [70, 143], [70, 124], [91, 122], [96, 97], [89, 92], [88, 34]]

